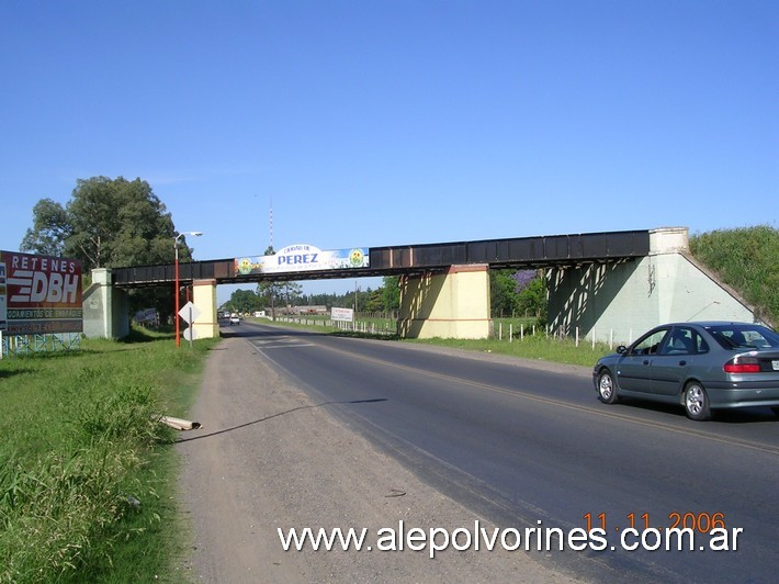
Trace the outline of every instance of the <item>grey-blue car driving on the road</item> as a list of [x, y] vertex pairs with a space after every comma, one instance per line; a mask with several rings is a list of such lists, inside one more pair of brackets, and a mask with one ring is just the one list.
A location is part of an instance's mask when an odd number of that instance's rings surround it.
[[592, 369], [598, 397], [679, 404], [696, 420], [713, 409], [769, 406], [779, 415], [779, 335], [748, 323], [671, 323], [653, 328]]

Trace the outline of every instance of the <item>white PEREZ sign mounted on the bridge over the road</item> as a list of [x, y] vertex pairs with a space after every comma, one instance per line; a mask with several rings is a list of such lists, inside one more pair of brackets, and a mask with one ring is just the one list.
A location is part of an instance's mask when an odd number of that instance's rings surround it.
[[235, 260], [236, 273], [240, 276], [368, 267], [369, 251], [365, 247], [323, 251], [307, 244], [287, 246], [273, 256], [244, 257]]

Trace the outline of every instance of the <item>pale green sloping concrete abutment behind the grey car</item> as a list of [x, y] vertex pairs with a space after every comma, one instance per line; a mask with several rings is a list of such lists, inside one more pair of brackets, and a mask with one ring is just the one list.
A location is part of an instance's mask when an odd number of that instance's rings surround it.
[[686, 227], [650, 232], [650, 256], [549, 271], [553, 330], [630, 342], [662, 323], [754, 322], [752, 308], [689, 256]]

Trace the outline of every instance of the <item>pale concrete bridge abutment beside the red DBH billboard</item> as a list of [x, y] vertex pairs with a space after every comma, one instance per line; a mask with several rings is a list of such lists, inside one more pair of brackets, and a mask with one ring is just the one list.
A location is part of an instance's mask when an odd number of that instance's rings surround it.
[[111, 270], [92, 270], [92, 285], [82, 296], [83, 335], [88, 338], [123, 338], [129, 335], [127, 292], [111, 285]]

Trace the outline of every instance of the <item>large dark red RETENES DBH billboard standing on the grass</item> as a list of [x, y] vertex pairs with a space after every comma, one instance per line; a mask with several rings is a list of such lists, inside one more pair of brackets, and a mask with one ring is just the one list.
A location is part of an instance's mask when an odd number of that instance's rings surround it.
[[79, 260], [0, 251], [0, 322], [8, 334], [83, 330]]

